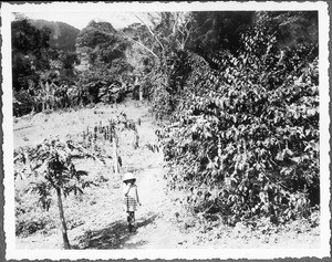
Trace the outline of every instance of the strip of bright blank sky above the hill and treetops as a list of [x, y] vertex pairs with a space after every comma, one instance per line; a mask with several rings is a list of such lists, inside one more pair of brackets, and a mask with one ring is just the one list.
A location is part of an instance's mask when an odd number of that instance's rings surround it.
[[141, 21], [135, 17], [139, 17], [144, 21], [146, 14], [134, 12], [23, 12], [30, 19], [43, 19], [54, 22], [65, 22], [76, 29], [82, 30], [90, 21], [95, 20], [111, 22], [115, 29], [124, 28], [128, 24]]

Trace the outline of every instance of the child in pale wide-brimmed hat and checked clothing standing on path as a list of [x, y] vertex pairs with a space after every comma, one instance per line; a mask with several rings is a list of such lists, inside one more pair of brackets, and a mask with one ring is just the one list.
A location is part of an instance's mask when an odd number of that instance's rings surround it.
[[137, 205], [141, 206], [135, 181], [136, 178], [133, 172], [126, 172], [124, 175], [124, 209], [127, 212], [129, 232], [133, 232], [133, 229], [135, 227], [135, 211], [137, 210]]

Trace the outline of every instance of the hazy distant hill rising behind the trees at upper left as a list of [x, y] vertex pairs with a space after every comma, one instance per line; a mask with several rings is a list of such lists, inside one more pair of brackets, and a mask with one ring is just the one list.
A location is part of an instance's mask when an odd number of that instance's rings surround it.
[[52, 22], [45, 20], [31, 20], [31, 23], [41, 29], [51, 29], [50, 45], [65, 51], [75, 51], [76, 36], [80, 30], [63, 22]]

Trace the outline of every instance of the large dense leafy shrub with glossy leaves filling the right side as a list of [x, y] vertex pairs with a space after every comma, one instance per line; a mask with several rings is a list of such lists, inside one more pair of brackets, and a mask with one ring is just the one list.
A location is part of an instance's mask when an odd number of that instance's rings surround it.
[[190, 190], [197, 212], [230, 224], [308, 216], [319, 203], [315, 46], [279, 50], [270, 22], [258, 17], [238, 55], [216, 53], [218, 70], [193, 67], [160, 132], [169, 185]]

